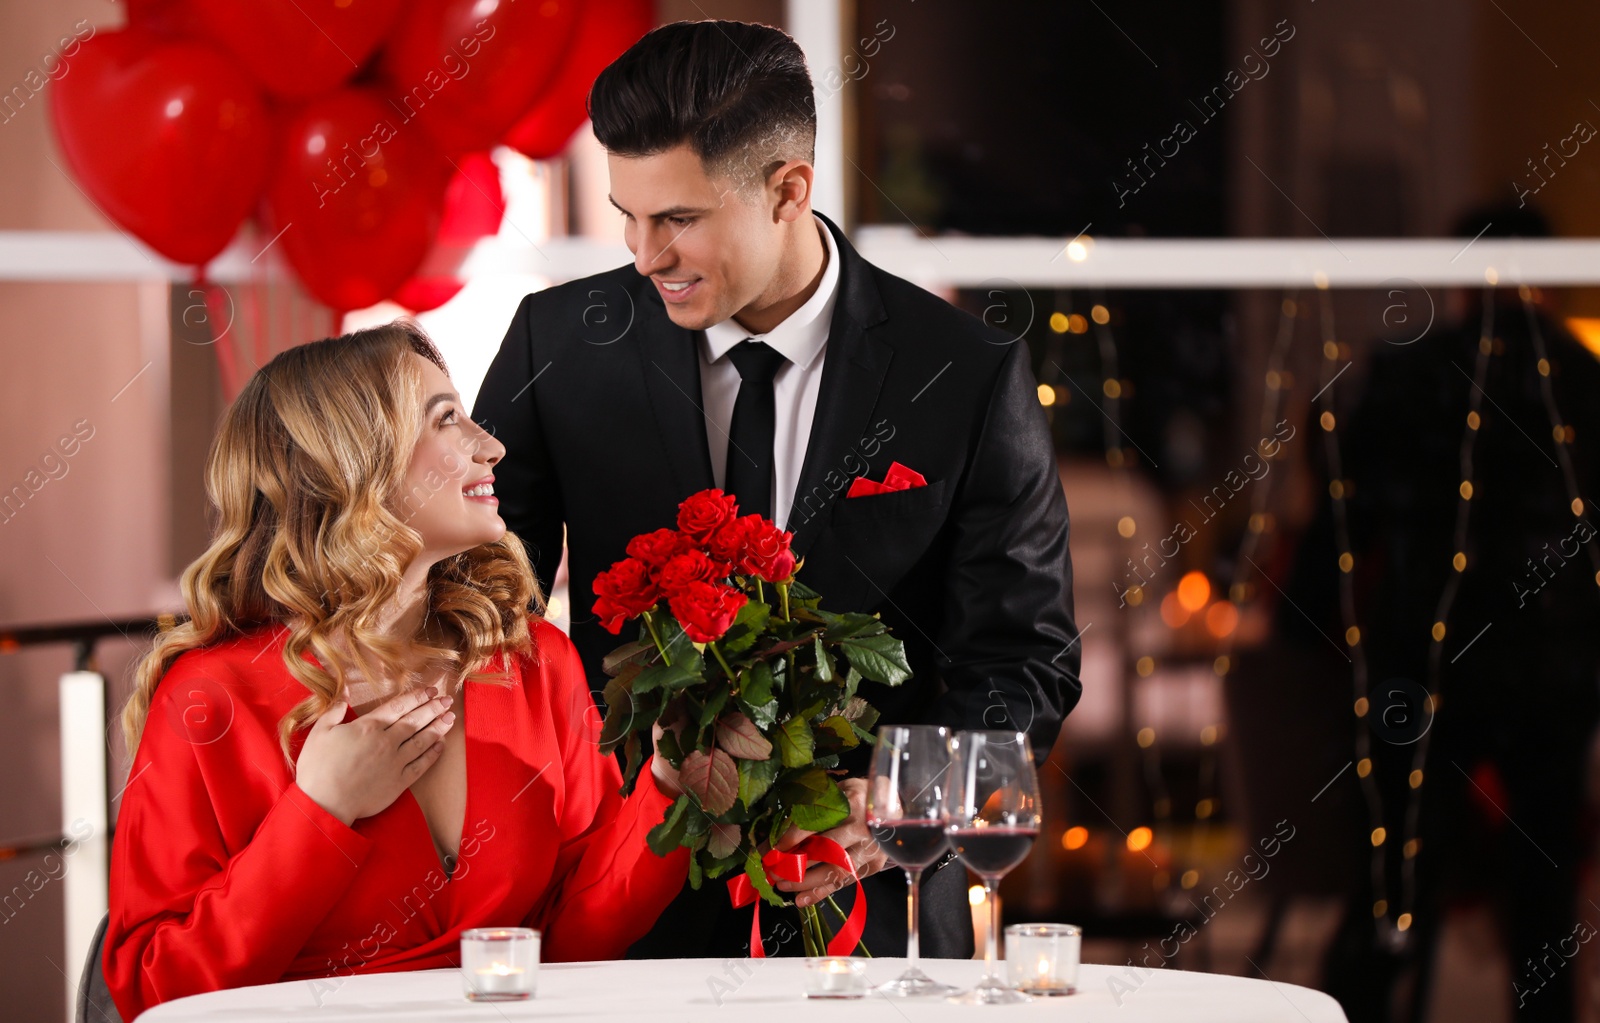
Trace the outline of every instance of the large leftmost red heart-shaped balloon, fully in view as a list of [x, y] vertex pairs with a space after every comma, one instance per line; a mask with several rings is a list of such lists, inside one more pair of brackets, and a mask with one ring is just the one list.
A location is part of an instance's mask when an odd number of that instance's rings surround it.
[[83, 191], [174, 263], [208, 263], [261, 197], [266, 104], [203, 43], [134, 29], [85, 40], [51, 90], [51, 115]]

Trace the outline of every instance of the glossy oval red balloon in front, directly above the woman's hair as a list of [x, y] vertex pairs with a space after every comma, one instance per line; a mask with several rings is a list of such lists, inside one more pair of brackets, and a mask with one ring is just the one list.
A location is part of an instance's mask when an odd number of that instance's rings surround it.
[[266, 229], [323, 304], [347, 312], [394, 293], [438, 231], [448, 165], [371, 90], [310, 101], [286, 126]]

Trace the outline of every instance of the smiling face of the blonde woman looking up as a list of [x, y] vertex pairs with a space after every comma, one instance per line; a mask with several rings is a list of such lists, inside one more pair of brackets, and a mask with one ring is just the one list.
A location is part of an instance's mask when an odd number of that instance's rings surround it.
[[443, 370], [416, 352], [410, 357], [422, 370], [426, 411], [395, 514], [422, 535], [421, 557], [432, 564], [506, 535], [488, 485], [506, 445], [472, 421]]

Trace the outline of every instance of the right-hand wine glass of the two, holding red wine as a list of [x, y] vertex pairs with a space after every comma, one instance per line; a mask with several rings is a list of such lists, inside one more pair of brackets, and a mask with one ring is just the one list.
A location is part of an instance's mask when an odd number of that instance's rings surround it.
[[984, 978], [950, 1001], [971, 1005], [1026, 1002], [995, 969], [1000, 937], [1000, 879], [1027, 858], [1038, 837], [1038, 776], [1034, 748], [1022, 732], [960, 732], [947, 799], [950, 845], [968, 869], [984, 879], [989, 900], [989, 941]]

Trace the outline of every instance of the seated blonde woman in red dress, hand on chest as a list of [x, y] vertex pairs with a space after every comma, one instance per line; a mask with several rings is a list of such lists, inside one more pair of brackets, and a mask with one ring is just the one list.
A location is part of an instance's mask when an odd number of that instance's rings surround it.
[[[104, 972], [158, 1002], [458, 964], [467, 927], [614, 959], [683, 884], [491, 496], [504, 447], [406, 322], [290, 349], [229, 407], [189, 618], [139, 666]], [[530, 610], [531, 608], [531, 610]]]

